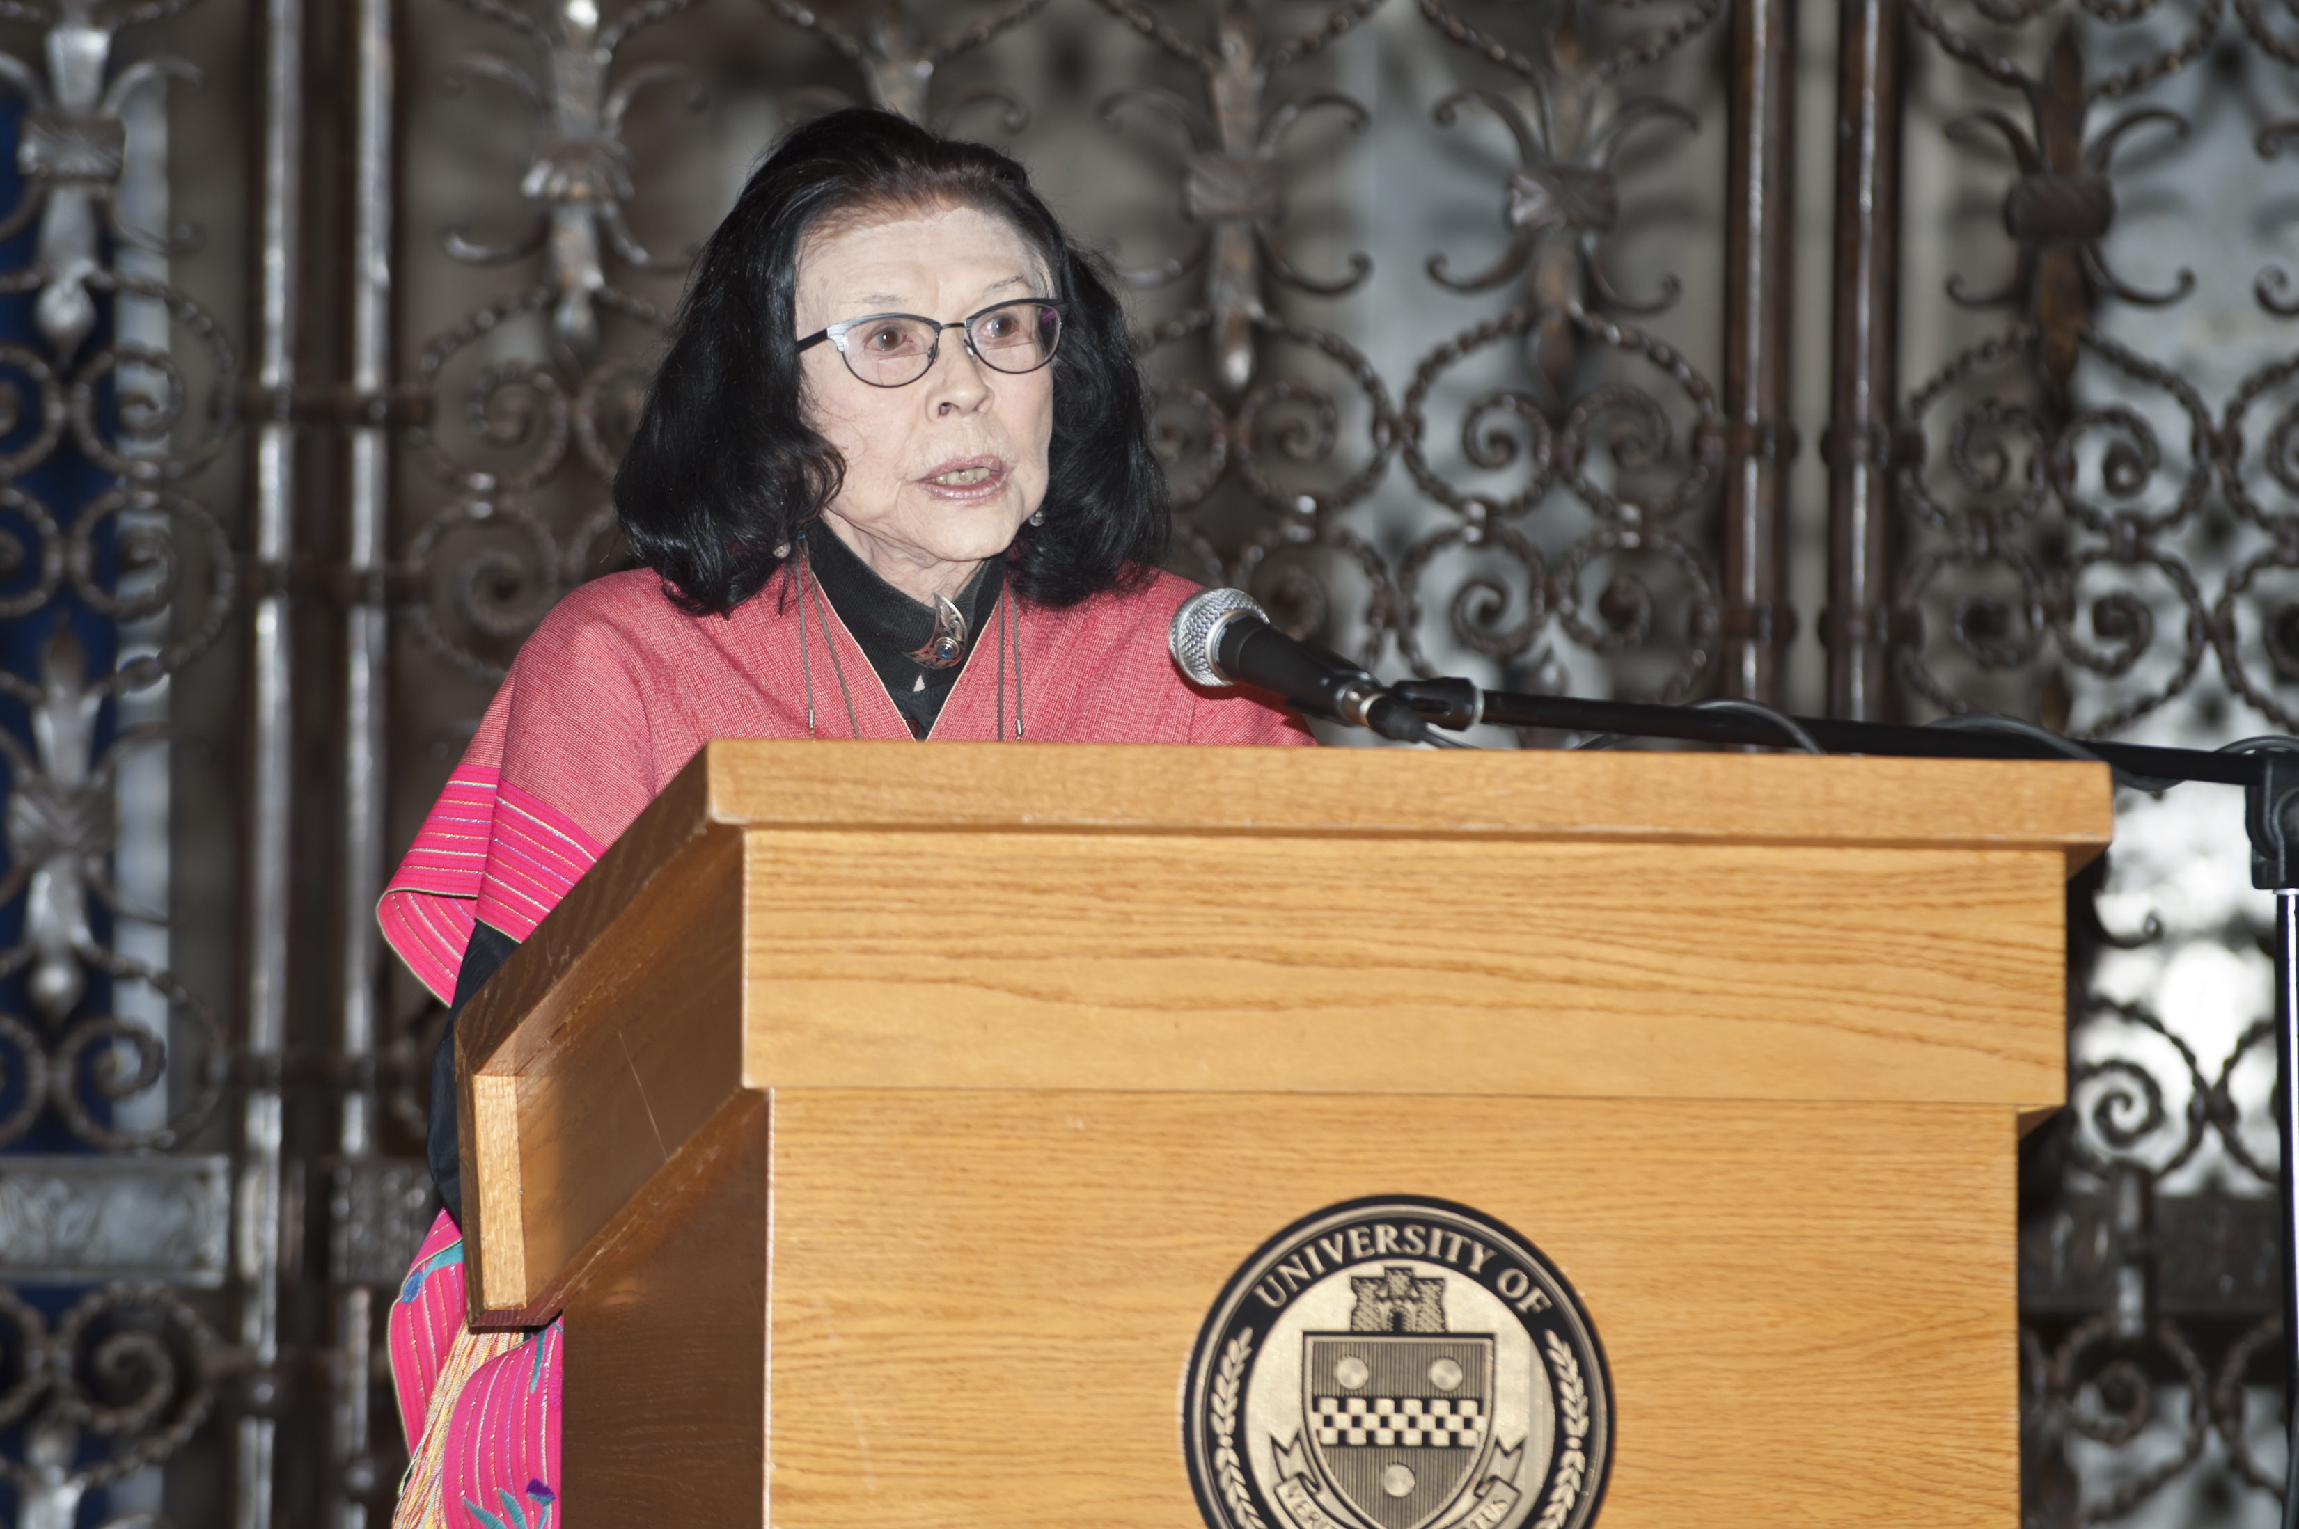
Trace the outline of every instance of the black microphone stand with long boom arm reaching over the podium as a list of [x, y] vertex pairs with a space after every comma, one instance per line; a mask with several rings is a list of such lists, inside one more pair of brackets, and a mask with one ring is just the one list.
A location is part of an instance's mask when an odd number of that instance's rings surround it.
[[[1681, 738], [1724, 747], [1791, 747], [1807, 754], [1894, 754], [1906, 759], [2094, 759], [2117, 784], [2163, 791], [2182, 782], [2244, 789], [2244, 830], [2251, 837], [2251, 885], [2276, 894], [2276, 1129], [2283, 1166], [2276, 1175], [2283, 1209], [2283, 1409], [2290, 1428], [2290, 1474], [2283, 1488], [2283, 1529], [2299, 1529], [2299, 738], [2246, 738], [2225, 750], [2166, 750], [2136, 743], [2076, 743], [2014, 717], [1943, 717], [1931, 727], [1892, 722], [1835, 722], [1791, 717], [1756, 701], [1658, 706], [1589, 701], [1579, 697], [1478, 690], [1471, 681], [1402, 681], [1389, 687], [1432, 727], [1467, 729], [1545, 727], [1598, 733], [1589, 745], [1621, 738]], [[2200, 1405], [2200, 1398], [2198, 1398]]]

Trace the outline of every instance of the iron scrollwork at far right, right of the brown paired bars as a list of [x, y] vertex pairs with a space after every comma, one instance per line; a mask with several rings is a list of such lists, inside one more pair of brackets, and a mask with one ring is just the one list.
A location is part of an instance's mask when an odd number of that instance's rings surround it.
[[[2283, 462], [2290, 405], [2269, 425], [2265, 462], [2248, 460], [2244, 428], [2285, 398], [2294, 366], [2255, 370], [2214, 412], [2198, 382], [2122, 338], [2120, 310], [2186, 299], [2196, 276], [2133, 287], [2104, 255], [2120, 214], [2117, 147], [2147, 126], [2173, 140], [2191, 129], [2166, 106], [2094, 126], [2094, 108], [2202, 57], [2221, 2], [2173, 16], [2154, 2], [2083, 0], [2081, 23], [2048, 2], [1975, 9], [1991, 37], [2051, 28], [2030, 69], [1931, 0], [1908, 0], [1947, 57], [2025, 106], [2028, 122], [1979, 106], [1947, 124], [1961, 147], [2000, 140], [2016, 170], [2002, 200], [2009, 281], [1975, 294], [1954, 278], [1947, 294], [2009, 306], [2019, 322], [1963, 347], [1901, 405], [1890, 453], [1913, 540], [1892, 612], [1899, 678], [1927, 706], [2039, 708], [2071, 733], [2108, 736], [2175, 727], [2173, 701], [2216, 717], [2205, 694], [2216, 655], [2237, 699], [2290, 727], [2276, 694], [2288, 676], [2271, 658], [2251, 671], [2246, 653], [2271, 655], [2281, 639], [2253, 584], [2292, 566], [2281, 556], [2290, 515], [2267, 508], [2258, 483], [2299, 483]], [[2276, 53], [2258, 7], [2235, 9]], [[2129, 62], [2099, 71], [2120, 28], [2154, 28], [2154, 46], [2117, 44]], [[2278, 143], [2276, 129], [2260, 136], [2262, 152]], [[2258, 301], [2274, 310], [2281, 285], [2265, 274]], [[2267, 531], [2267, 545], [2230, 556], [2228, 510]], [[2260, 635], [2246, 637], [2246, 623]], [[2271, 1069], [2269, 1028], [2248, 1025], [2207, 1065], [2152, 1000], [2129, 996], [2133, 961], [2168, 973], [2177, 950], [2248, 936], [2189, 922], [2173, 938], [2150, 915], [2138, 936], [2117, 938], [2092, 908], [2097, 890], [2071, 897], [2071, 1108], [2044, 1129], [2025, 1175], [2023, 1467], [2025, 1520], [2039, 1529], [2159, 1511], [2207, 1472], [2242, 1490], [2283, 1485], [2251, 1432], [2255, 1393], [2278, 1380], [2253, 1370], [2283, 1327], [2262, 1198], [2276, 1177], [2258, 1083]], [[2122, 975], [2108, 975], [2110, 959]], [[2166, 1391], [2184, 1393], [2184, 1421], [2170, 1421]], [[2115, 1451], [2106, 1476], [2078, 1469], [2101, 1449]]]

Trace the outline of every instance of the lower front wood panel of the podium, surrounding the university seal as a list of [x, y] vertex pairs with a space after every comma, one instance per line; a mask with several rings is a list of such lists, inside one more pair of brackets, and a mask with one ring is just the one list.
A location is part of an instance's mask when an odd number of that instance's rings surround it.
[[2007, 1111], [793, 1090], [772, 1175], [777, 1527], [1198, 1522], [1198, 1324], [1370, 1193], [1487, 1212], [1582, 1294], [1607, 1529], [2019, 1522]]

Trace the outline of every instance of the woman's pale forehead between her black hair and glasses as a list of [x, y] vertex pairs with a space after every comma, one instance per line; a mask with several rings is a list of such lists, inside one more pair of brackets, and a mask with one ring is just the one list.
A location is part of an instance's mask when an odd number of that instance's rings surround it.
[[855, 212], [809, 232], [798, 248], [798, 301], [837, 308], [830, 317], [848, 308], [993, 304], [1035, 294], [1041, 281], [1044, 260], [1021, 230], [979, 207]]

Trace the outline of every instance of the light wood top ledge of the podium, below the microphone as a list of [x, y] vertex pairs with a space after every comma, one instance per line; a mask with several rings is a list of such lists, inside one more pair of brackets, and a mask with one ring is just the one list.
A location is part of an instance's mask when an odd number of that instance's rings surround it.
[[2069, 869], [2115, 825], [2106, 766], [1993, 759], [722, 740], [681, 789], [669, 816], [759, 830], [2058, 846]]

